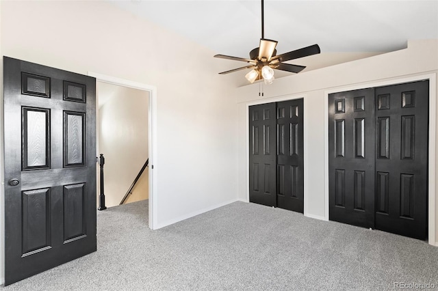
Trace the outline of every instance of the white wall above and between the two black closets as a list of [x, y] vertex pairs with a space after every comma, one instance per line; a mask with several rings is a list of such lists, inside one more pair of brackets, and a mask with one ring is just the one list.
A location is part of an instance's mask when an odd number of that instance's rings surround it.
[[[246, 149], [247, 106], [256, 102], [271, 102], [287, 98], [305, 98], [305, 214], [309, 217], [326, 217], [324, 196], [324, 105], [327, 90], [346, 91], [348, 87], [367, 87], [376, 82], [435, 73], [438, 70], [438, 40], [410, 41], [407, 49], [351, 61], [337, 66], [322, 68], [276, 79], [273, 85], [264, 87], [264, 98], [258, 96], [259, 85], [236, 89], [238, 107], [238, 193], [247, 199]], [[436, 79], [436, 77], [435, 77]], [[437, 80], [435, 80], [437, 84]], [[434, 88], [436, 91], [436, 87]], [[434, 98], [434, 96], [430, 96]], [[435, 162], [435, 165], [437, 163]], [[435, 180], [438, 179], [438, 176]], [[431, 193], [437, 197], [437, 191]], [[438, 199], [435, 200], [438, 213]], [[307, 205], [306, 205], [307, 204]], [[435, 223], [438, 234], [438, 220]]]

